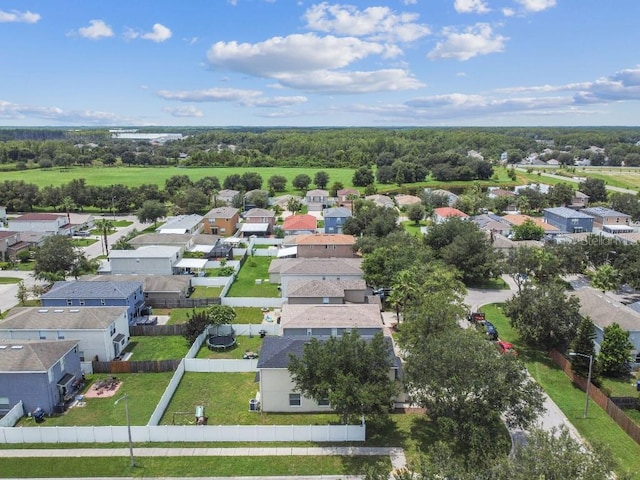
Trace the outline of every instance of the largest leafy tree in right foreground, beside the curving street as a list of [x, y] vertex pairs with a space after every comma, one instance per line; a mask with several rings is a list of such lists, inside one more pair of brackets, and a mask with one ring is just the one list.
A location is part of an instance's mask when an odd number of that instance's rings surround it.
[[407, 356], [405, 379], [412, 402], [475, 454], [483, 451], [500, 418], [525, 428], [544, 410], [540, 387], [519, 360], [500, 355], [472, 330], [427, 337]]

